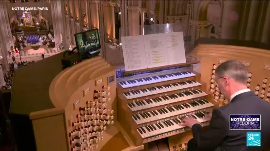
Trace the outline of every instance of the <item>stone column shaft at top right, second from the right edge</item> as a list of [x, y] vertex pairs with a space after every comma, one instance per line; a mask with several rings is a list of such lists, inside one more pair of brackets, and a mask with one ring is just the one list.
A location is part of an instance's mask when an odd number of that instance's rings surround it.
[[249, 10], [247, 29], [245, 34], [245, 40], [253, 40], [254, 30], [256, 26], [257, 11], [258, 11], [259, 1], [251, 1], [251, 6]]

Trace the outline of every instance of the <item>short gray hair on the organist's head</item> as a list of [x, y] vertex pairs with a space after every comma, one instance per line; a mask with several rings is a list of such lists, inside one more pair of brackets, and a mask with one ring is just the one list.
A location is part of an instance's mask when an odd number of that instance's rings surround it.
[[228, 60], [221, 63], [216, 69], [216, 74], [218, 77], [227, 75], [237, 82], [247, 84], [248, 69], [237, 60]]

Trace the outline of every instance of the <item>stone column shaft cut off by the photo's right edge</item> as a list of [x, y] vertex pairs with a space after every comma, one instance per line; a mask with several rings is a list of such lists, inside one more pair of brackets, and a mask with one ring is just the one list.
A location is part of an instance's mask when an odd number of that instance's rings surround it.
[[262, 38], [261, 38], [261, 42], [262, 43], [269, 43], [270, 40], [270, 2], [268, 2], [268, 7], [266, 10], [266, 15], [265, 15], [265, 22], [264, 22], [264, 26], [263, 26], [263, 30], [262, 30]]

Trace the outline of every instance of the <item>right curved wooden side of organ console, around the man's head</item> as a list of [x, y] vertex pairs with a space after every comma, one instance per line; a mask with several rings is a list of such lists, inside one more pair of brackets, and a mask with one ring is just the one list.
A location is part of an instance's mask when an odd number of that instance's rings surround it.
[[[201, 81], [206, 84], [205, 92], [215, 107], [226, 105], [218, 85], [215, 83], [215, 69], [226, 60], [235, 59], [242, 62], [249, 71], [247, 87], [261, 99], [270, 99], [270, 46], [253, 41], [230, 39], [200, 38], [195, 49], [187, 57], [200, 60], [196, 67], [201, 73]], [[187, 132], [169, 137], [170, 151], [181, 151], [187, 148], [187, 141], [192, 133]]]

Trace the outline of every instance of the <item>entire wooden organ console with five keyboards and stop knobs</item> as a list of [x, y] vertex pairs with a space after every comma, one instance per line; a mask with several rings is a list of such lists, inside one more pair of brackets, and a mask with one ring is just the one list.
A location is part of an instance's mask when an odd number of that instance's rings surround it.
[[[211, 42], [215, 41], [222, 39], [211, 38]], [[38, 70], [54, 58], [59, 62], [61, 55], [16, 71], [12, 91], [22, 89], [16, 84], [18, 77], [27, 76], [19, 76], [20, 72], [30, 68]], [[29, 92], [12, 93], [10, 112], [14, 116], [27, 115], [25, 119], [24, 116], [17, 118], [20, 121], [14, 125], [30, 119], [28, 126], [16, 129], [22, 134], [19, 136], [33, 132], [29, 135], [33, 139], [28, 140], [33, 140], [39, 151], [147, 150], [147, 143], [167, 137], [171, 151], [186, 150], [192, 132], [179, 125], [183, 118], [193, 117], [207, 128], [209, 121], [204, 118], [205, 114], [230, 103], [215, 83], [217, 66], [229, 59], [237, 59], [247, 66], [247, 87], [269, 102], [269, 50], [199, 41], [195, 50], [186, 56], [197, 60], [121, 72], [97, 56], [63, 71], [60, 63], [53, 70], [43, 68], [42, 71], [55, 75], [43, 76], [50, 83], [42, 83], [44, 91], [49, 91], [48, 96], [39, 97], [42, 93], [27, 85], [23, 89]], [[35, 83], [39, 81], [36, 79]], [[35, 95], [33, 92], [39, 95], [31, 98]], [[19, 140], [24, 141], [20, 137]], [[27, 141], [20, 143], [18, 148], [25, 150], [26, 144]]]

